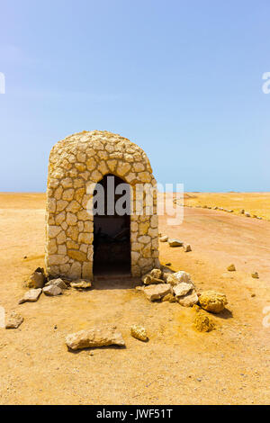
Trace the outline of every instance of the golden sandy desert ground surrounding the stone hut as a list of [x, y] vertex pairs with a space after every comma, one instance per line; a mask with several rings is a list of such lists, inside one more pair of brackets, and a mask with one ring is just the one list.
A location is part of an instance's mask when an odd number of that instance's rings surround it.
[[[186, 204], [226, 203], [270, 219], [270, 193], [190, 196]], [[192, 309], [148, 302], [129, 281], [17, 305], [23, 281], [43, 266], [44, 208], [43, 193], [0, 194], [0, 305], [24, 318], [19, 329], [0, 329], [1, 404], [269, 403], [270, 327], [262, 323], [270, 306], [269, 221], [190, 207], [181, 226], [160, 218], [160, 232], [193, 247], [184, 253], [160, 243], [161, 263], [189, 272], [199, 292], [228, 297], [228, 310], [213, 318], [217, 329], [199, 333]], [[230, 263], [237, 272], [226, 270]], [[103, 323], [121, 330], [126, 348], [67, 351], [68, 333]], [[130, 337], [134, 323], [148, 329], [148, 343]]]

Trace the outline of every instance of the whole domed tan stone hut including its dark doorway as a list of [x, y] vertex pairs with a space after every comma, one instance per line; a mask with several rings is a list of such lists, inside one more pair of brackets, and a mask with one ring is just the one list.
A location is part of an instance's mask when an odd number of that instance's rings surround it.
[[[111, 183], [130, 187], [123, 215], [106, 207], [94, 213], [96, 191], [89, 187], [97, 183], [105, 198]], [[47, 274], [92, 279], [111, 273], [140, 276], [159, 267], [156, 184], [146, 153], [120, 135], [83, 131], [59, 141], [49, 155]], [[139, 185], [151, 188], [152, 208], [146, 193], [139, 197]]]

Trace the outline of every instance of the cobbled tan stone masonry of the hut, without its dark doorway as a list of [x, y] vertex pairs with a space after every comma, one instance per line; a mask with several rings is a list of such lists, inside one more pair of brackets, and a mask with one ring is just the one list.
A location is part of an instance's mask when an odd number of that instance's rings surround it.
[[[58, 141], [49, 155], [46, 268], [52, 276], [93, 277], [94, 216], [87, 184], [115, 175], [133, 188], [156, 187], [146, 153], [108, 131], [83, 131]], [[93, 196], [92, 196], [93, 197]], [[136, 201], [136, 193], [133, 195]], [[153, 210], [130, 215], [130, 273], [158, 266], [157, 193]], [[116, 220], [115, 220], [116, 221]], [[112, 228], [111, 228], [112, 229]], [[105, 266], [105, 263], [104, 263]]]

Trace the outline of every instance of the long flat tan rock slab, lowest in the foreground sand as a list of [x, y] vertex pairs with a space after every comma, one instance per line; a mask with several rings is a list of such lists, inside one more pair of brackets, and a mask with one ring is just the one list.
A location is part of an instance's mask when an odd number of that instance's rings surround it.
[[80, 330], [66, 337], [67, 347], [73, 351], [83, 348], [119, 346], [124, 347], [125, 342], [115, 327], [93, 328]]

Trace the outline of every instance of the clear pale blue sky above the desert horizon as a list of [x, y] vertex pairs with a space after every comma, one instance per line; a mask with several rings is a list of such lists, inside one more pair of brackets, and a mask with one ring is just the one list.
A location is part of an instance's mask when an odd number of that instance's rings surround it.
[[0, 0], [0, 191], [110, 130], [186, 191], [270, 191], [269, 0]]

